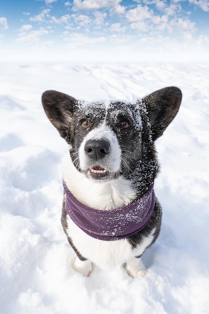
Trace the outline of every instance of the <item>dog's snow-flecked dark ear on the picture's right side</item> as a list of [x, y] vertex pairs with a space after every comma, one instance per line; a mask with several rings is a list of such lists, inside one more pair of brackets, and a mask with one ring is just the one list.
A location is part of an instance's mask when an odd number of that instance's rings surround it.
[[181, 98], [180, 89], [172, 86], [159, 89], [142, 99], [151, 122], [153, 140], [161, 136], [173, 120], [178, 112]]

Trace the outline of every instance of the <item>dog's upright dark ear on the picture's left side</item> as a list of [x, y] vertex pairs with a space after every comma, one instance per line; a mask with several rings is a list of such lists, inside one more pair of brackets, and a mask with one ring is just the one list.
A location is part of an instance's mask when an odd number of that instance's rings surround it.
[[42, 95], [46, 115], [68, 142], [70, 142], [69, 130], [76, 102], [75, 98], [55, 90], [47, 90]]

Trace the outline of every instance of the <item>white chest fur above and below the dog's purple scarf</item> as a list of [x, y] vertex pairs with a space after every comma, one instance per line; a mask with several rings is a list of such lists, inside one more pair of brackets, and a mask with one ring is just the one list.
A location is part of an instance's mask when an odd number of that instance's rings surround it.
[[[71, 193], [83, 204], [100, 210], [111, 210], [128, 205], [135, 199], [134, 190], [123, 178], [109, 182], [94, 182], [76, 170], [70, 155], [64, 158], [63, 179]], [[153, 240], [153, 232], [136, 248], [127, 239], [101, 241], [84, 233], [68, 216], [67, 233], [81, 255], [101, 268], [122, 265], [134, 256], [141, 255]]]

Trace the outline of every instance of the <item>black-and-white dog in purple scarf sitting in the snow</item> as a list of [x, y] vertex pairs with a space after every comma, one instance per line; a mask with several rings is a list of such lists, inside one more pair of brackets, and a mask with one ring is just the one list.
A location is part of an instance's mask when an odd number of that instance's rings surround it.
[[159, 172], [154, 142], [175, 117], [182, 94], [157, 90], [135, 102], [87, 102], [49, 90], [44, 110], [70, 145], [64, 160], [62, 226], [76, 253], [73, 267], [145, 273], [141, 256], [160, 232], [153, 185]]

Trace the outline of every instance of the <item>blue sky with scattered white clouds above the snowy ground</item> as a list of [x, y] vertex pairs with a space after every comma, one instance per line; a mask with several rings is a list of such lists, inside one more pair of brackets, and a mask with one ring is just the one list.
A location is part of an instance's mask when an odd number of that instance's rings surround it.
[[2, 60], [207, 61], [209, 0], [1, 0]]

